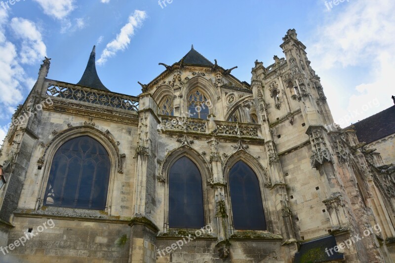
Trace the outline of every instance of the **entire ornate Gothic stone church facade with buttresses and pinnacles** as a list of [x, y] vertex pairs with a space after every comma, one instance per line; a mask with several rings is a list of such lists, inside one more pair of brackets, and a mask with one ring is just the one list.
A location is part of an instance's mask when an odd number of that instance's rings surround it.
[[[288, 263], [312, 241], [329, 236], [340, 246], [379, 225], [380, 232], [337, 255], [345, 262], [394, 262], [394, 167], [360, 144], [352, 128], [325, 128], [333, 118], [306, 47], [295, 30], [280, 47], [285, 58], [275, 56], [268, 67], [256, 61], [251, 84], [192, 48], [180, 62], [162, 64], [166, 70], [152, 82], [140, 83], [138, 97], [48, 79], [45, 59], [1, 149], [7, 184], [0, 190], [0, 235], [8, 239], [1, 245], [49, 219], [54, 227], [6, 257]], [[208, 98], [206, 119], [187, 114], [197, 89]], [[173, 114], [163, 115], [165, 104]], [[44, 206], [56, 150], [83, 135], [110, 156], [105, 210]], [[182, 156], [201, 173], [204, 223], [212, 231], [169, 227], [169, 171]], [[228, 182], [239, 160], [258, 178], [265, 231], [235, 229]], [[174, 245], [187, 236], [192, 240], [182, 248]], [[309, 262], [311, 254], [298, 258]]]

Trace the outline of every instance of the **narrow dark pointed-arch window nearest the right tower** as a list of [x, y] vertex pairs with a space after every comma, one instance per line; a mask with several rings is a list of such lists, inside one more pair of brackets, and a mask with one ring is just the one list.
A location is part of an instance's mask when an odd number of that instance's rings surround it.
[[235, 229], [266, 230], [258, 177], [241, 160], [230, 170], [229, 188]]

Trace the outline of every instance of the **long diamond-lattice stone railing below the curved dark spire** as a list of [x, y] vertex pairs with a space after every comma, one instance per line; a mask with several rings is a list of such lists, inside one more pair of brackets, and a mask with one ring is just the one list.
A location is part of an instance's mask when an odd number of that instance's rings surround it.
[[81, 87], [55, 80], [47, 79], [47, 81], [48, 88], [46, 94], [49, 96], [87, 102], [126, 111], [138, 111], [139, 99], [137, 97]]

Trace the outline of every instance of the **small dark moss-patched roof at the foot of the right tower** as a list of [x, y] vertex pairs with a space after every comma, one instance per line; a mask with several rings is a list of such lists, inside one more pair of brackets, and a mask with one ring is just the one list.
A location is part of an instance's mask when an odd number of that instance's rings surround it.
[[[299, 252], [295, 253], [294, 262], [317, 263], [343, 260], [343, 254], [335, 252], [332, 249], [336, 245], [336, 239], [332, 235], [302, 243], [300, 244]], [[326, 248], [327, 250], [325, 251]]]

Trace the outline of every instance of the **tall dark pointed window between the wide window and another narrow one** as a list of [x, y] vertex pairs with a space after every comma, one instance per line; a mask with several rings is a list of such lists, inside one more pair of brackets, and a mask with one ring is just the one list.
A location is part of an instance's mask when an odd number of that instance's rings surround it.
[[203, 189], [199, 169], [188, 157], [178, 159], [169, 174], [169, 227], [204, 226]]

